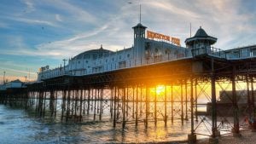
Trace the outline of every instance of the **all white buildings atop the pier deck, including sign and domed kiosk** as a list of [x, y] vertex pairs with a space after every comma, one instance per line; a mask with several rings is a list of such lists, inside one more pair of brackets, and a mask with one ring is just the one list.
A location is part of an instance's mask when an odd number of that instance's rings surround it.
[[67, 66], [49, 69], [43, 66], [38, 72], [38, 81], [55, 78], [62, 75], [82, 76], [100, 72], [110, 72], [119, 69], [151, 65], [169, 60], [191, 58], [195, 55], [216, 55], [225, 59], [247, 58], [256, 55], [256, 47], [244, 47], [221, 51], [215, 49], [212, 44], [217, 38], [207, 35], [201, 27], [194, 37], [185, 40], [186, 48], [180, 46], [179, 39], [165, 36], [159, 33], [147, 32], [146, 26], [138, 23], [133, 26], [134, 43], [131, 48], [119, 51], [104, 49], [92, 49], [74, 56], [68, 60]]

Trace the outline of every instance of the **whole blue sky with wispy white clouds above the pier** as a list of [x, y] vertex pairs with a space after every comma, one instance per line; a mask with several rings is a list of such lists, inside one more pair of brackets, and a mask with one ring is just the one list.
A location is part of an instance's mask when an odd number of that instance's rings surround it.
[[[131, 4], [129, 3], [131, 2]], [[256, 44], [254, 0], [1, 0], [0, 83], [36, 78], [40, 66], [63, 65], [88, 49], [131, 47], [131, 27], [142, 23], [148, 30], [179, 37], [184, 46], [202, 26], [219, 49]]]

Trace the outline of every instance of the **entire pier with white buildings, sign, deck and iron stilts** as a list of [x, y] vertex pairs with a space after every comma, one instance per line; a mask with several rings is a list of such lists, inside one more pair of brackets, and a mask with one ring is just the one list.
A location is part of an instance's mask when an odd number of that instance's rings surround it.
[[[92, 49], [74, 56], [64, 66], [43, 66], [38, 81], [23, 88], [0, 91], [1, 103], [34, 109], [38, 117], [61, 115], [61, 121], [111, 121], [120, 124], [189, 122], [189, 143], [197, 135], [240, 136], [255, 131], [254, 79], [256, 45], [222, 50], [212, 47], [216, 37], [201, 27], [180, 46], [177, 37], [132, 27], [134, 43], [119, 51]], [[219, 92], [227, 91], [231, 118], [218, 108]], [[246, 111], [239, 111], [237, 95], [247, 91]], [[61, 102], [60, 102], [61, 101]], [[210, 115], [200, 107], [211, 105]], [[56, 114], [57, 113], [57, 114]], [[241, 118], [248, 123], [241, 124]], [[224, 126], [226, 125], [226, 126]], [[208, 133], [201, 132], [206, 129]]]

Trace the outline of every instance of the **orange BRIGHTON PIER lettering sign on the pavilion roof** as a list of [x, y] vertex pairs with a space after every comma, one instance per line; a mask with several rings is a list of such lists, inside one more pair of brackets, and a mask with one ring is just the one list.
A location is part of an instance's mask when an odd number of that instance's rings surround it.
[[166, 41], [172, 42], [172, 43], [180, 46], [180, 39], [177, 37], [170, 37], [170, 36], [166, 36], [164, 34], [151, 32], [151, 31], [147, 31], [147, 37], [152, 38], [152, 39], [157, 38], [157, 39], [161, 39], [161, 40], [166, 40]]

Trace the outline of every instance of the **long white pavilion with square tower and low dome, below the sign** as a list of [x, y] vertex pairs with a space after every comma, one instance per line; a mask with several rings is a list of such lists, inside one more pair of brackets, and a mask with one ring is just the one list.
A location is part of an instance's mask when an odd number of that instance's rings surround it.
[[62, 75], [82, 76], [100, 72], [110, 72], [134, 66], [143, 66], [168, 60], [191, 57], [191, 50], [164, 41], [145, 37], [146, 28], [142, 24], [132, 27], [134, 46], [116, 52], [92, 49], [76, 55], [65, 67], [46, 69], [38, 72], [38, 81]]

